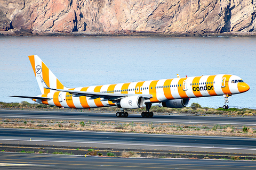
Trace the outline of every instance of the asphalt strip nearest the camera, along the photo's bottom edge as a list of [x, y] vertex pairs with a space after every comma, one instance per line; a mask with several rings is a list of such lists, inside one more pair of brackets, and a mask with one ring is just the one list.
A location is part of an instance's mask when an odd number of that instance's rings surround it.
[[256, 169], [256, 162], [0, 153], [1, 169]]

